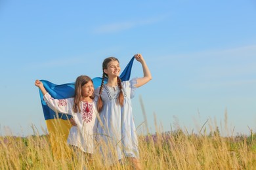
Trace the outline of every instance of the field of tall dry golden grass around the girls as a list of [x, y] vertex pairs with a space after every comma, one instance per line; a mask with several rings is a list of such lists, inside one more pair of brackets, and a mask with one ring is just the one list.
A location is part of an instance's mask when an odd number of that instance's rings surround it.
[[[139, 135], [140, 162], [144, 169], [256, 169], [254, 133], [221, 137], [214, 129]], [[48, 135], [1, 137], [0, 169], [131, 169], [128, 161], [107, 167], [99, 154], [88, 162], [58, 139], [53, 150], [49, 140]]]

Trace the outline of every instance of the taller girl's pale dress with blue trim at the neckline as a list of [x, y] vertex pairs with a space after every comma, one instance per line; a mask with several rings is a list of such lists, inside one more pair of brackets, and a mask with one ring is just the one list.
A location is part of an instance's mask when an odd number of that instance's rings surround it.
[[[123, 86], [124, 102], [121, 107], [117, 101], [119, 88], [104, 85], [102, 89], [103, 108], [100, 112], [102, 125], [98, 124], [98, 139], [104, 144], [100, 146], [105, 161], [113, 163], [113, 159], [120, 160], [123, 156], [139, 158], [136, 127], [133, 121], [131, 98], [135, 95], [137, 78], [121, 82]], [[99, 88], [95, 90], [98, 97]], [[97, 99], [95, 99], [97, 101]]]

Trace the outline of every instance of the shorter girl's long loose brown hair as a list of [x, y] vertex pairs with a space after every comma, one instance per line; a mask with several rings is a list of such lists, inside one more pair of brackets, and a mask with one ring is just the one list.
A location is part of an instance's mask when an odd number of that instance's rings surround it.
[[[88, 82], [93, 82], [89, 76], [81, 75], [78, 76], [75, 80], [75, 97], [74, 97], [74, 105], [73, 111], [74, 112], [81, 112], [79, 107], [82, 97], [82, 87], [83, 85], [87, 84]], [[91, 99], [94, 99], [94, 95], [90, 96]]]

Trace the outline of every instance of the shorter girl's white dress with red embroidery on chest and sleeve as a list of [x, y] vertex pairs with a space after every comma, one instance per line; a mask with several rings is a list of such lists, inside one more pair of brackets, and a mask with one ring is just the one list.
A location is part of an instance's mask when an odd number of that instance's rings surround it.
[[68, 135], [68, 144], [77, 146], [83, 152], [93, 154], [94, 148], [94, 133], [96, 131], [96, 110], [95, 101], [81, 102], [80, 112], [73, 111], [74, 98], [68, 99], [53, 99], [49, 93], [43, 96], [47, 105], [57, 112], [70, 114], [73, 116], [77, 126], [72, 126]]

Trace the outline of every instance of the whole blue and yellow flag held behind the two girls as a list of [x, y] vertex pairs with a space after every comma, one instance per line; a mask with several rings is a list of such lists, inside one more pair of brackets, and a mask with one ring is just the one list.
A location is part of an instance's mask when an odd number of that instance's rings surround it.
[[[131, 75], [131, 68], [133, 66], [133, 57], [131, 61], [127, 64], [121, 75], [119, 76], [122, 81], [129, 80]], [[66, 99], [69, 97], [74, 97], [75, 92], [75, 83], [67, 83], [67, 84], [60, 84], [56, 85], [52, 82], [47, 80], [41, 80], [47, 92], [54, 98], [54, 99]], [[102, 82], [101, 77], [93, 78], [93, 84], [95, 89], [100, 86]], [[104, 83], [107, 82], [107, 78], [104, 79]], [[49, 131], [49, 135], [51, 137], [51, 143], [53, 144], [55, 141], [59, 141], [60, 139], [66, 141], [68, 139], [68, 134], [70, 131], [70, 124], [69, 119], [72, 117], [68, 114], [62, 114], [58, 112], [54, 112], [54, 110], [50, 109], [45, 101], [43, 100], [43, 93], [39, 90], [40, 98], [41, 98], [41, 105], [43, 107], [43, 114], [45, 116], [45, 122], [47, 124], [47, 130]], [[56, 135], [58, 134], [58, 135]], [[56, 139], [55, 137], [58, 136], [60, 139]], [[54, 137], [54, 138], [53, 138]], [[54, 145], [54, 144], [53, 144]]]

